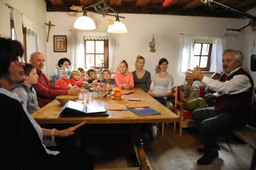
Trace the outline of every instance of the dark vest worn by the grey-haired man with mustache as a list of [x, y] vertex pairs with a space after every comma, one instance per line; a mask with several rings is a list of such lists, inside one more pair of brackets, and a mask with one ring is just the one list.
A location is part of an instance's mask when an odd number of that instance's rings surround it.
[[222, 75], [219, 81], [225, 82], [237, 75], [247, 76], [250, 80], [251, 87], [247, 91], [238, 94], [219, 94], [215, 110], [219, 113], [224, 112], [246, 120], [249, 119], [252, 114], [252, 91], [254, 84], [251, 76], [243, 68], [240, 68], [229, 77], [225, 74]]

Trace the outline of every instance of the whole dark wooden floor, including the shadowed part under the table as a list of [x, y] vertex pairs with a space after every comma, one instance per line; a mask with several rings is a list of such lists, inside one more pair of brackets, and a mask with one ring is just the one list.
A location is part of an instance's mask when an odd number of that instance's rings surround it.
[[[210, 165], [198, 165], [197, 160], [203, 154], [197, 151], [197, 148], [202, 147], [197, 129], [186, 128], [182, 136], [173, 131], [172, 124], [166, 125], [164, 130], [164, 136], [160, 136], [158, 131], [154, 141], [148, 140], [147, 135], [142, 137], [143, 148], [154, 170], [249, 169], [253, 150], [236, 136], [229, 135], [229, 144], [226, 143], [224, 134], [218, 136], [222, 147], [219, 158]], [[131, 152], [133, 148], [129, 147], [130, 138], [120, 134], [114, 136], [116, 138], [108, 133], [96, 136], [87, 134], [87, 150], [95, 155], [95, 169], [137, 166], [137, 160], [134, 159], [136, 156]]]

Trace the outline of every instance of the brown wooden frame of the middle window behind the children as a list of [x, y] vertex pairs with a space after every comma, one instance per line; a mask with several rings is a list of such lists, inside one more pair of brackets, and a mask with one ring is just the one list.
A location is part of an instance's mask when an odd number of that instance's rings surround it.
[[[97, 54], [102, 54], [102, 53], [95, 53], [95, 43], [96, 41], [103, 41], [104, 42], [104, 53], [103, 53], [103, 56], [104, 56], [104, 69], [108, 69], [109, 68], [109, 39], [84, 39], [84, 68], [88, 69], [87, 66], [86, 66], [86, 56], [87, 56], [87, 53], [86, 53], [86, 42], [87, 41], [94, 41], [94, 53], [88, 53], [88, 54], [93, 54], [94, 55], [94, 63], [96, 63], [96, 58], [95, 56]], [[100, 69], [99, 66], [94, 66], [94, 67], [91, 67], [91, 68], [94, 68], [94, 69]]]

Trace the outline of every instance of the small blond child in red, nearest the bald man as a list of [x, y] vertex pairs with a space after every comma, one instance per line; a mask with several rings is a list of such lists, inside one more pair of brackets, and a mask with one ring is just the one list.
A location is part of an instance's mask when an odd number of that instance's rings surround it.
[[60, 67], [57, 71], [59, 79], [55, 81], [55, 86], [58, 87], [72, 87], [70, 80], [67, 78], [68, 69], [66, 67]]

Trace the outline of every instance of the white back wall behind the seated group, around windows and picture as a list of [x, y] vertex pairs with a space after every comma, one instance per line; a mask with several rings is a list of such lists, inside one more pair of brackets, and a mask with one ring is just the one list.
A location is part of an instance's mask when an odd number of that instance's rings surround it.
[[[53, 75], [57, 61], [62, 57], [70, 58], [70, 35], [73, 25], [82, 13], [75, 12], [47, 12], [47, 20], [51, 20], [55, 27], [52, 28], [47, 54], [51, 60], [47, 61], [48, 77]], [[89, 13], [96, 23], [95, 31], [104, 31], [108, 28], [106, 19], [109, 16]], [[179, 73], [181, 39], [180, 33], [202, 35], [225, 35], [227, 47], [244, 51], [244, 33], [229, 33], [227, 28], [241, 28], [245, 25], [244, 19], [147, 15], [147, 14], [120, 14], [120, 18], [127, 27], [128, 33], [120, 35], [119, 61], [125, 59], [129, 64], [129, 70], [135, 69], [137, 55], [146, 59], [145, 69], [151, 74], [156, 73], [159, 59], [166, 58], [169, 61], [168, 72], [174, 76], [175, 85], [184, 83], [184, 74]], [[64, 21], [63, 21], [64, 20]], [[156, 35], [156, 53], [150, 53], [148, 43], [152, 35]], [[67, 35], [67, 53], [53, 52], [53, 35]], [[210, 76], [208, 74], [207, 76]]]

